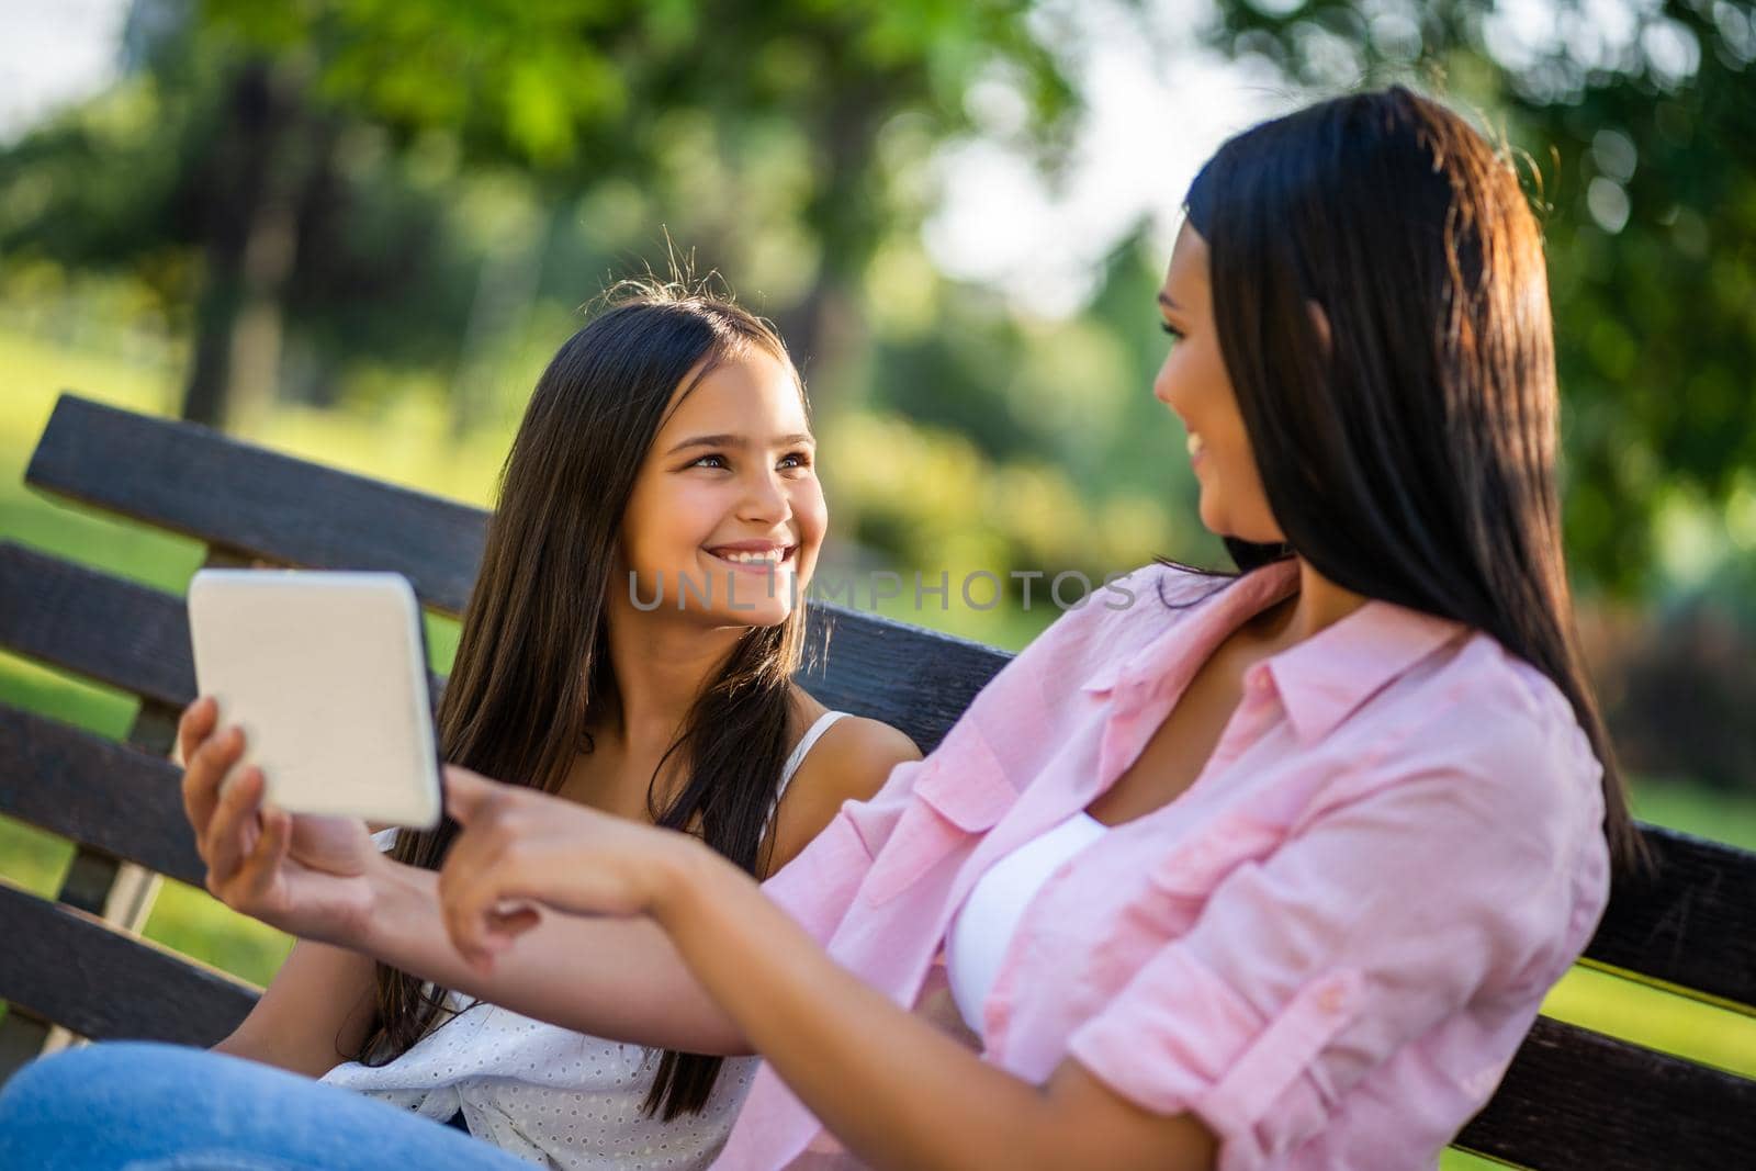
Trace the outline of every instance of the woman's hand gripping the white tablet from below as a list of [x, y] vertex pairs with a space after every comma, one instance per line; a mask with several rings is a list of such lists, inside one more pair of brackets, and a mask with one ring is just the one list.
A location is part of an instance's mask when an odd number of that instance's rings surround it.
[[207, 890], [234, 911], [307, 939], [342, 943], [371, 916], [378, 862], [365, 823], [263, 804], [262, 769], [237, 767], [244, 734], [216, 732], [220, 708], [197, 699], [177, 723], [183, 809], [207, 864]]

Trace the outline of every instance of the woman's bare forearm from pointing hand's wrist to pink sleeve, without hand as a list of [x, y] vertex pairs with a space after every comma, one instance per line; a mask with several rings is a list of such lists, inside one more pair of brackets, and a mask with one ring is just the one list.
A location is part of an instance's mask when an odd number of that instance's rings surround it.
[[1075, 1062], [1022, 1081], [903, 1011], [720, 858], [699, 850], [655, 904], [688, 969], [759, 1053], [873, 1167], [1210, 1167], [1189, 1115], [1147, 1113]]

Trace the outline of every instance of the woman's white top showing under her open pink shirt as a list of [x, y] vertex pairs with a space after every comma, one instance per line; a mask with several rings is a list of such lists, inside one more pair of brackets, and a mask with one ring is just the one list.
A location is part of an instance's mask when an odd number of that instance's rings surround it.
[[1110, 832], [1089, 813], [1075, 813], [990, 866], [952, 918], [945, 943], [945, 978], [964, 1024], [987, 1041], [982, 1006], [999, 978], [1006, 948], [1031, 899], [1075, 853]]

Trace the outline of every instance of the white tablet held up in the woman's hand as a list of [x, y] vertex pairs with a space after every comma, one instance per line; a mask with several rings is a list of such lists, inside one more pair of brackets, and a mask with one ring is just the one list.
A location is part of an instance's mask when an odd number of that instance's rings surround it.
[[293, 813], [432, 829], [443, 809], [421, 609], [402, 574], [204, 569], [202, 695]]

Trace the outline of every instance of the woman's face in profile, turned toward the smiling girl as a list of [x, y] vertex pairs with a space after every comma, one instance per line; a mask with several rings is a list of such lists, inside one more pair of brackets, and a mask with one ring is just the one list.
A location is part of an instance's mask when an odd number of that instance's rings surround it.
[[1152, 381], [1152, 393], [1177, 413], [1189, 432], [1189, 460], [1201, 485], [1201, 523], [1222, 537], [1259, 544], [1285, 541], [1268, 507], [1238, 397], [1220, 356], [1208, 246], [1189, 221], [1177, 233], [1171, 267], [1159, 288], [1159, 311], [1173, 341]]

